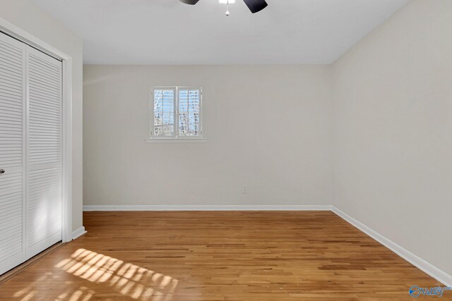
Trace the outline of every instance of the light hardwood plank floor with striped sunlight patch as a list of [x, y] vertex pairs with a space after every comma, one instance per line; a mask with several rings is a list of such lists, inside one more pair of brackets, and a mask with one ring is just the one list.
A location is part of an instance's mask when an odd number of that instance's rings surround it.
[[84, 224], [0, 300], [414, 300], [411, 285], [441, 285], [329, 211], [86, 212]]

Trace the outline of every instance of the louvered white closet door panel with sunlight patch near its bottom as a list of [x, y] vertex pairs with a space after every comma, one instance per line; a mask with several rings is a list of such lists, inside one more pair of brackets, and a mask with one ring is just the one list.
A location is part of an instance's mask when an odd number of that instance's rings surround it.
[[27, 258], [61, 240], [61, 61], [28, 47]]

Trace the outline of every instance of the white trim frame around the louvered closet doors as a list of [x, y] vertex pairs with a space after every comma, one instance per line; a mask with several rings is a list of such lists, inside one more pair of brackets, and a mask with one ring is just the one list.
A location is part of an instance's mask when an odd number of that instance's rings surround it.
[[59, 51], [41, 39], [31, 35], [16, 25], [0, 18], [0, 32], [4, 32], [20, 42], [30, 45], [55, 59], [62, 61], [62, 241], [73, 239], [72, 231], [72, 57]]

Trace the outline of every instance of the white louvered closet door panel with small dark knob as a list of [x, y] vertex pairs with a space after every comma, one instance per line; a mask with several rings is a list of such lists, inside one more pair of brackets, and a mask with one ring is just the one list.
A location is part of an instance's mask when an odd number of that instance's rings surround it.
[[25, 44], [0, 32], [0, 274], [23, 262]]

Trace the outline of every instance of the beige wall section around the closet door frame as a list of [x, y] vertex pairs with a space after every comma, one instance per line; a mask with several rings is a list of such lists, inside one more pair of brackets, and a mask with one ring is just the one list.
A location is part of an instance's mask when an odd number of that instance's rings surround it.
[[82, 226], [83, 40], [29, 0], [0, 0], [0, 18], [72, 56], [73, 59], [73, 230]]

